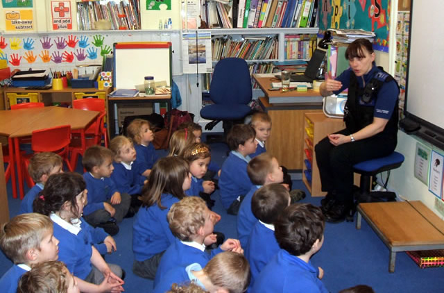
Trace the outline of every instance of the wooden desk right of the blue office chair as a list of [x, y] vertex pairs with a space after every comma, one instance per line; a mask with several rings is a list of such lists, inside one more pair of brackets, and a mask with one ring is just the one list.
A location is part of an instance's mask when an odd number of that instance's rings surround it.
[[[304, 115], [306, 112], [321, 112], [322, 97], [319, 92], [280, 92], [268, 90], [272, 82], [271, 77], [262, 77], [253, 74], [259, 87], [266, 97], [260, 97], [262, 109], [268, 113], [273, 122], [271, 135], [266, 142], [266, 149], [290, 171], [302, 171], [304, 138]], [[279, 101], [280, 103], [270, 101]]]

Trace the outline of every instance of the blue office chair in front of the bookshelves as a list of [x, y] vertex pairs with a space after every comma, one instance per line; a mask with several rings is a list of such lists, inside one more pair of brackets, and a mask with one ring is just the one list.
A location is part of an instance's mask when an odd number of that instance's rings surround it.
[[244, 59], [225, 58], [217, 62], [210, 85], [210, 99], [214, 104], [200, 110], [200, 117], [212, 120], [205, 126], [207, 130], [222, 121], [226, 135], [234, 123], [241, 123], [250, 113], [251, 77]]

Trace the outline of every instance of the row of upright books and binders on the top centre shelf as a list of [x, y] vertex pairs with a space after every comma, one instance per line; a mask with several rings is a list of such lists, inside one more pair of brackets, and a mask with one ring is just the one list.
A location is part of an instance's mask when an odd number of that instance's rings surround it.
[[200, 0], [208, 28], [318, 26], [318, 0]]

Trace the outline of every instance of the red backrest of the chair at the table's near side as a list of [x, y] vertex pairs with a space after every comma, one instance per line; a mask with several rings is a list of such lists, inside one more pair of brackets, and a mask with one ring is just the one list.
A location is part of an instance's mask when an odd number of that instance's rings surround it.
[[33, 131], [31, 149], [33, 151], [58, 151], [69, 146], [71, 126], [62, 125]]

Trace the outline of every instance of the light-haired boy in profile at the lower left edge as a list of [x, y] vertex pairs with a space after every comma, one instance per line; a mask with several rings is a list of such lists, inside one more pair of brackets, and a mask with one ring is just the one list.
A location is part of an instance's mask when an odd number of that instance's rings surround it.
[[19, 278], [33, 265], [58, 259], [59, 241], [49, 217], [28, 213], [13, 217], [0, 231], [0, 247], [14, 265], [0, 279], [2, 292], [15, 293]]

